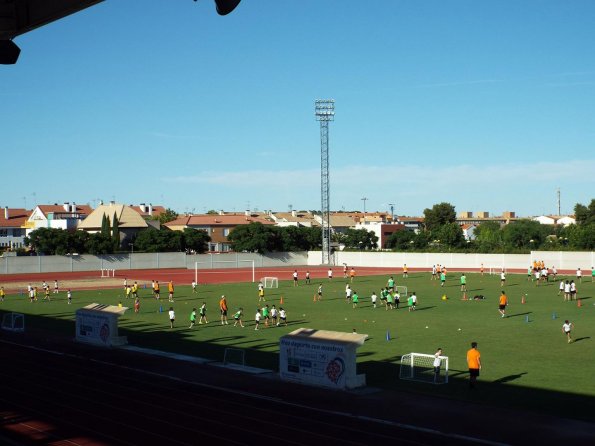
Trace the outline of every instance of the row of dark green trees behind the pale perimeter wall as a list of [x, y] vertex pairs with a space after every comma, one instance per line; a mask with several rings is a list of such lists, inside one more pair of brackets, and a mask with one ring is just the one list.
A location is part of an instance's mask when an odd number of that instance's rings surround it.
[[[332, 234], [332, 242], [348, 250], [394, 251], [453, 251], [478, 253], [520, 253], [530, 250], [593, 250], [595, 249], [595, 199], [587, 206], [574, 207], [576, 224], [567, 227], [542, 225], [521, 219], [501, 226], [487, 221], [475, 229], [475, 239], [465, 240], [456, 213], [449, 203], [435, 204], [424, 210], [424, 226], [418, 231], [400, 230], [390, 236], [386, 246], [378, 246], [378, 237], [365, 229], [349, 228]], [[171, 219], [171, 216], [170, 216]], [[252, 222], [232, 229], [227, 237], [236, 252], [291, 252], [321, 249], [322, 229], [318, 226], [279, 227]], [[101, 231], [39, 228], [25, 237], [25, 244], [34, 252], [46, 255], [67, 253], [113, 254], [137, 252], [196, 252], [208, 251], [211, 237], [204, 230], [186, 228], [172, 231], [166, 227], [148, 228], [135, 237], [120, 235], [119, 222], [114, 215], [104, 216]], [[122, 248], [124, 248], [122, 250]]]

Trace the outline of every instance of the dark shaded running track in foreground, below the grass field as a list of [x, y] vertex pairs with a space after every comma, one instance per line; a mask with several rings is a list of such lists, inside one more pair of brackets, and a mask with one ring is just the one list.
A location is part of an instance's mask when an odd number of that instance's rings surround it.
[[591, 444], [593, 424], [2, 333], [2, 444]]

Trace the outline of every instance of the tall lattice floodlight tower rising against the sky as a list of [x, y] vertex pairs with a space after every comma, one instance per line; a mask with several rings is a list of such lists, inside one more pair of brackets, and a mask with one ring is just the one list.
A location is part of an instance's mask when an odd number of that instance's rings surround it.
[[331, 263], [330, 190], [328, 164], [328, 123], [335, 120], [335, 100], [317, 99], [314, 102], [316, 120], [320, 121], [320, 196], [322, 217], [322, 264]]

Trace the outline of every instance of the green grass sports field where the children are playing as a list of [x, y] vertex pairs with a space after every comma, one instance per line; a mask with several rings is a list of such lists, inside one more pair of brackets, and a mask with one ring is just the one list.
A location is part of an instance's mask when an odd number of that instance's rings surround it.
[[[400, 309], [373, 308], [370, 294], [379, 294], [388, 275], [358, 276], [352, 288], [360, 296], [357, 308], [345, 299], [347, 280], [313, 280], [294, 287], [279, 281], [279, 288], [266, 289], [266, 303], [287, 311], [288, 326], [254, 330], [258, 303], [257, 284], [200, 285], [193, 294], [189, 286], [177, 284], [175, 303], [162, 293], [158, 302], [150, 287], [140, 290], [141, 308], [132, 310], [132, 299], [121, 289], [75, 291], [73, 305], [64, 293], [51, 302], [41, 298], [30, 303], [20, 295], [9, 295], [0, 310], [26, 314], [27, 328], [39, 328], [74, 336], [74, 311], [88, 303], [122, 302], [130, 310], [120, 319], [120, 334], [134, 345], [222, 360], [226, 347], [245, 350], [246, 364], [276, 370], [278, 339], [300, 327], [369, 335], [358, 349], [358, 372], [366, 373], [368, 385], [430, 393], [448, 398], [485, 401], [559, 413], [566, 417], [593, 419], [595, 413], [595, 283], [590, 278], [578, 284], [578, 301], [564, 302], [558, 282], [536, 286], [525, 275], [508, 275], [500, 287], [497, 275], [467, 275], [468, 296], [485, 300], [461, 300], [460, 273], [451, 273], [446, 285], [432, 281], [429, 273], [394, 275], [396, 284], [418, 296], [416, 311], [408, 311], [404, 299]], [[559, 277], [566, 279], [566, 277]], [[568, 279], [574, 279], [569, 277]], [[314, 301], [318, 285], [323, 285], [322, 301]], [[509, 298], [507, 317], [500, 317], [498, 297], [504, 289]], [[219, 321], [218, 302], [227, 296], [229, 325]], [[441, 297], [446, 294], [447, 299]], [[523, 302], [525, 297], [525, 303]], [[283, 302], [281, 303], [281, 299]], [[189, 329], [192, 308], [206, 302], [209, 323]], [[174, 329], [169, 328], [167, 310], [176, 311]], [[245, 328], [233, 327], [233, 313], [244, 309]], [[162, 310], [162, 311], [160, 311]], [[574, 324], [575, 342], [568, 344], [562, 333], [565, 319]], [[477, 391], [467, 386], [466, 351], [476, 341], [482, 355], [482, 371]], [[410, 352], [434, 353], [441, 347], [450, 361], [450, 382], [445, 386], [400, 381], [401, 355]], [[398, 402], [397, 402], [398, 403]]]

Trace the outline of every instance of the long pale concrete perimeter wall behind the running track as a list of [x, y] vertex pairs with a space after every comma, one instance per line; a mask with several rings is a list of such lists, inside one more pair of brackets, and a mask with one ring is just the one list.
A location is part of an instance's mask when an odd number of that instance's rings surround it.
[[[576, 271], [577, 268], [590, 271], [595, 265], [593, 252], [569, 251], [534, 251], [531, 254], [459, 254], [459, 253], [415, 253], [415, 252], [336, 252], [333, 263], [349, 266], [369, 266], [384, 268], [402, 268], [404, 264], [411, 269], [425, 268], [440, 264], [449, 269], [479, 269], [483, 263], [489, 269], [506, 268], [509, 271], [524, 272], [533, 260], [543, 260], [548, 267], [555, 266], [559, 271]], [[254, 266], [303, 266], [320, 265], [322, 253], [279, 252], [266, 256], [255, 253], [222, 253], [186, 255], [181, 252], [135, 253], [105, 256], [35, 256], [35, 257], [0, 257], [0, 274], [50, 273], [62, 271], [97, 271], [102, 268], [158, 269], [188, 268], [198, 269], [251, 268]]]

